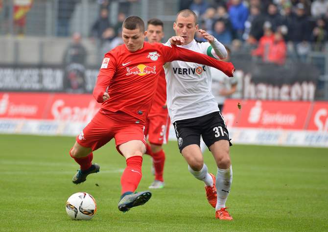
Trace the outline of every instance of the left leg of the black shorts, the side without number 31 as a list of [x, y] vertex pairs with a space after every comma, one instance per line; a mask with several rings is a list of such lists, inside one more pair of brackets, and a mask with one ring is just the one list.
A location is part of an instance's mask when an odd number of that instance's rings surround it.
[[175, 135], [178, 139], [180, 153], [188, 145], [200, 146], [201, 132], [198, 128], [188, 123], [188, 120], [180, 120], [173, 123]]

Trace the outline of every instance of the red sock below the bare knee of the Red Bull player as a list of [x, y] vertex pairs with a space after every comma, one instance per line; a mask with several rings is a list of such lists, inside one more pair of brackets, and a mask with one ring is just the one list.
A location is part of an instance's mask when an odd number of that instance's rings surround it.
[[141, 156], [133, 156], [126, 160], [126, 167], [121, 177], [121, 194], [134, 192], [137, 189], [142, 177], [141, 164]]

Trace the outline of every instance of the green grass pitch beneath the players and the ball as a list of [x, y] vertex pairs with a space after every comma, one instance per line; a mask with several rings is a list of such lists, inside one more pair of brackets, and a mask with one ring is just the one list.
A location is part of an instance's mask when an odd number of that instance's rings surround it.
[[[126, 213], [117, 209], [125, 161], [114, 142], [94, 152], [100, 172], [77, 186], [71, 178], [78, 166], [68, 154], [73, 143], [73, 137], [0, 135], [0, 231], [328, 231], [328, 149], [232, 146], [227, 206], [234, 221], [219, 221], [176, 142], [164, 146], [165, 188]], [[209, 151], [204, 159], [216, 173]], [[149, 157], [143, 161], [138, 191], [153, 181]], [[90, 221], [66, 214], [66, 200], [79, 191], [97, 202]]]

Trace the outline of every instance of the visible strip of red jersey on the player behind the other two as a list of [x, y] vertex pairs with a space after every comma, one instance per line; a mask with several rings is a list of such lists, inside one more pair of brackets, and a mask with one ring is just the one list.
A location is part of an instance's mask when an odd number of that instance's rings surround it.
[[166, 80], [165, 80], [165, 71], [164, 69], [162, 69], [160, 73], [160, 77], [158, 78], [156, 93], [148, 117], [168, 114], [167, 108], [164, 108], [165, 104], [166, 104]]

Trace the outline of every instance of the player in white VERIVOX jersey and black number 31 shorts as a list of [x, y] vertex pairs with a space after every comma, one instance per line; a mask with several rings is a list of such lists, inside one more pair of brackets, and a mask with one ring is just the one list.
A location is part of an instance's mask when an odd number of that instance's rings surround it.
[[[168, 43], [207, 54], [216, 59], [227, 56], [225, 47], [205, 30], [198, 30], [197, 16], [191, 10], [182, 10], [173, 24], [176, 36]], [[194, 40], [199, 31], [208, 41]], [[173, 122], [181, 154], [188, 163], [189, 172], [205, 183], [209, 203], [215, 208], [215, 217], [233, 218], [226, 210], [233, 171], [229, 155], [232, 145], [224, 119], [211, 93], [210, 67], [183, 61], [164, 65], [167, 91], [167, 108]], [[208, 172], [200, 145], [203, 137], [217, 165], [217, 174]]]

